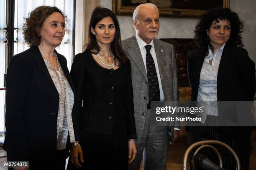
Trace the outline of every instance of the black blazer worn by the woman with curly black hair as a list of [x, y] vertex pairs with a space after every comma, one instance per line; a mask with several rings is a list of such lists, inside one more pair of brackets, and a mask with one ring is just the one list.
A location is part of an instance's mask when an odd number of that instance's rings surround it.
[[[189, 52], [187, 56], [187, 67], [189, 83], [192, 89], [191, 100], [197, 100], [200, 73], [205, 56], [198, 55], [197, 50]], [[248, 56], [248, 52], [241, 48], [226, 44], [217, 77], [218, 101], [253, 101], [255, 82], [255, 63]], [[244, 130], [251, 130], [252, 127], [231, 130], [228, 127], [221, 127], [224, 133], [243, 133]], [[188, 130], [188, 129], [187, 129]]]

